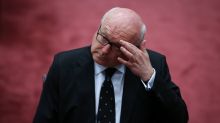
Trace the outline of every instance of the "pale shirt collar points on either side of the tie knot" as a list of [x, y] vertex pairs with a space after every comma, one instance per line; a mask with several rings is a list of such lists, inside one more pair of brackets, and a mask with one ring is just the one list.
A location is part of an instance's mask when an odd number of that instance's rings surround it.
[[[95, 66], [95, 75], [102, 73], [107, 68], [107, 67], [102, 66], [96, 62], [94, 62], [94, 66]], [[114, 68], [116, 68], [122, 74], [125, 73], [125, 65], [123, 65], [123, 64], [117, 65]]]

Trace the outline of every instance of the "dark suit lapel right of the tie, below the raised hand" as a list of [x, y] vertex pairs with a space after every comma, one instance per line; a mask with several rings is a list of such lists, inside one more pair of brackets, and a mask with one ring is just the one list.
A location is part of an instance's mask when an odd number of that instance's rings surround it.
[[135, 98], [137, 97], [136, 93], [138, 91], [139, 82], [140, 79], [126, 68], [122, 97], [121, 123], [127, 123], [129, 118], [131, 118], [131, 113], [135, 105]]

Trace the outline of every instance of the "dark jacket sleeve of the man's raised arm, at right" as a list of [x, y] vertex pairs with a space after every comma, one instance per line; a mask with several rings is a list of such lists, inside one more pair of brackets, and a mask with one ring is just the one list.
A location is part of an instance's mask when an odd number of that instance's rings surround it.
[[188, 111], [179, 88], [171, 81], [165, 56], [160, 60], [151, 93], [158, 102], [158, 112], [169, 123], [187, 123]]

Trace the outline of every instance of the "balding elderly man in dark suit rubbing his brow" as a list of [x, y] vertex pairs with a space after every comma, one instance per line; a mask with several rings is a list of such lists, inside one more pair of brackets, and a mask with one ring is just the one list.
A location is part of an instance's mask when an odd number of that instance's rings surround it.
[[91, 46], [54, 57], [33, 122], [187, 123], [165, 56], [144, 48], [145, 31], [133, 10], [109, 10]]

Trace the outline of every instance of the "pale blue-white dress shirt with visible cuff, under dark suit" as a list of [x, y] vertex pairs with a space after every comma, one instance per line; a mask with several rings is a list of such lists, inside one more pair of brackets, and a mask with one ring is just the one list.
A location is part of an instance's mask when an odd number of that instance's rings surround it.
[[[96, 101], [96, 115], [97, 115], [98, 106], [99, 106], [99, 95], [100, 95], [102, 84], [105, 80], [104, 70], [106, 69], [106, 67], [99, 65], [97, 63], [94, 63], [94, 68], [95, 68], [95, 101]], [[115, 68], [117, 69], [117, 71], [112, 76], [112, 84], [113, 84], [114, 93], [115, 93], [115, 115], [116, 115], [115, 123], [120, 123], [125, 66], [118, 65]], [[156, 75], [156, 71], [154, 70], [154, 73], [151, 76], [150, 80], [148, 81], [147, 85], [141, 80], [146, 90], [149, 90], [152, 88], [155, 75]]]

